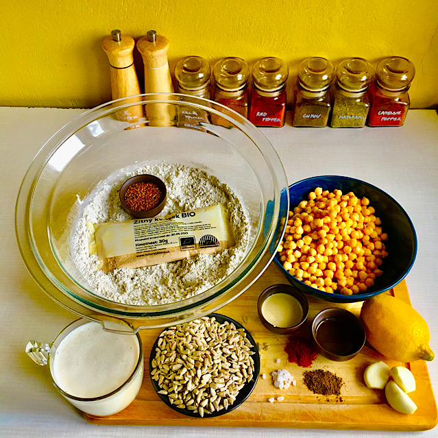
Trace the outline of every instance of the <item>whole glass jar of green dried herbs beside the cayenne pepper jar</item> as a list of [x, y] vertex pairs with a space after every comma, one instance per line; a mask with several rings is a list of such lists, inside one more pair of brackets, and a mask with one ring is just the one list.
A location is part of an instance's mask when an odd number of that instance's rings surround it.
[[374, 67], [363, 58], [349, 58], [337, 68], [332, 127], [364, 127], [369, 110], [368, 88]]

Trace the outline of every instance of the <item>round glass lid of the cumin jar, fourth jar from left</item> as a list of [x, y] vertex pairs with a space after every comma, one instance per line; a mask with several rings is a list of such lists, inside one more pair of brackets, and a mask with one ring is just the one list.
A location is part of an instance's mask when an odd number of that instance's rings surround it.
[[326, 90], [334, 78], [334, 66], [326, 58], [307, 58], [298, 67], [298, 83], [309, 91]]

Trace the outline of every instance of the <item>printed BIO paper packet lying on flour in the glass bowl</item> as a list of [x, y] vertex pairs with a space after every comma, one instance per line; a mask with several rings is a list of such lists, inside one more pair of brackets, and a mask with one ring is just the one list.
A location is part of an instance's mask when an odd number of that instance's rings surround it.
[[235, 245], [224, 204], [163, 217], [87, 223], [90, 255], [99, 269], [137, 268], [196, 254], [216, 254]]

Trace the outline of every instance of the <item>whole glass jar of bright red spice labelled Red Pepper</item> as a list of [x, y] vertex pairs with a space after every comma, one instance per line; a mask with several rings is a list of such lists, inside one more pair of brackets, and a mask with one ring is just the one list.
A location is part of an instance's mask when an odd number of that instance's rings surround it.
[[263, 58], [252, 68], [250, 113], [256, 126], [282, 127], [286, 116], [286, 81], [289, 70], [279, 58]]

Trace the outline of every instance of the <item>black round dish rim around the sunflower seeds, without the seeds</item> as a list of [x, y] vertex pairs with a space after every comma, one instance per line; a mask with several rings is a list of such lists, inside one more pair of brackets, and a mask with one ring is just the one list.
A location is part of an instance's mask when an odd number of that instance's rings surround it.
[[[158, 393], [158, 391], [160, 391], [161, 388], [158, 386], [158, 382], [156, 380], [154, 380], [153, 378], [151, 378], [152, 386], [154, 387], [154, 389], [155, 389], [156, 393], [158, 394], [158, 396], [160, 397], [160, 399], [163, 402], [165, 402], [165, 404], [167, 404], [167, 406], [169, 406], [169, 408], [173, 409], [173, 411], [182, 413], [184, 415], [188, 415], [189, 417], [196, 417], [196, 418], [219, 417], [219, 415], [226, 414], [226, 413], [238, 408], [243, 402], [245, 402], [245, 400], [248, 397], [250, 397], [252, 391], [256, 387], [258, 375], [260, 374], [260, 355], [258, 354], [256, 341], [254, 341], [250, 332], [248, 332], [247, 329], [245, 327], [243, 327], [241, 324], [239, 324], [237, 321], [234, 321], [234, 319], [231, 319], [230, 317], [227, 317], [225, 315], [219, 315], [219, 313], [210, 313], [210, 315], [208, 315], [208, 317], [209, 318], [215, 317], [216, 321], [218, 321], [219, 324], [223, 324], [225, 321], [228, 321], [228, 322], [234, 324], [234, 326], [236, 326], [237, 329], [243, 328], [243, 330], [245, 330], [245, 335], [252, 345], [250, 350], [252, 352], [254, 352], [254, 354], [252, 354], [252, 356], [251, 356], [254, 360], [254, 373], [252, 374], [252, 380], [250, 380], [250, 382], [245, 383], [245, 386], [239, 391], [239, 394], [237, 394], [236, 400], [234, 400], [233, 404], [230, 404], [228, 406], [228, 409], [221, 409], [221, 411], [214, 411], [210, 414], [204, 413], [204, 417], [201, 417], [201, 415], [199, 415], [199, 413], [197, 413], [197, 412], [189, 411], [188, 409], [180, 409], [180, 408], [176, 407], [174, 404], [171, 404], [171, 402], [169, 402], [169, 397], [167, 395]], [[168, 330], [168, 328], [165, 330]], [[165, 331], [165, 330], [163, 330], [163, 331]], [[159, 339], [160, 339], [160, 336], [158, 336], [154, 345], [152, 346], [151, 356], [149, 358], [149, 375], [151, 374], [152, 369], [153, 369], [152, 368], [152, 361], [155, 357], [154, 353], [155, 353], [155, 349], [158, 347], [158, 340]]]

